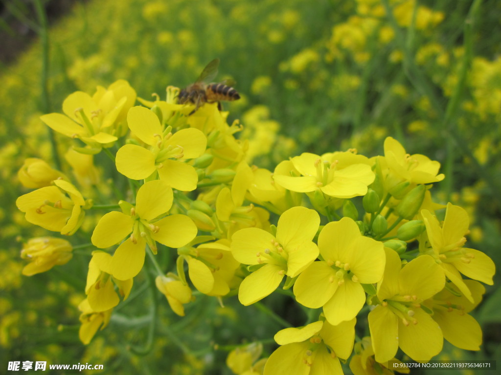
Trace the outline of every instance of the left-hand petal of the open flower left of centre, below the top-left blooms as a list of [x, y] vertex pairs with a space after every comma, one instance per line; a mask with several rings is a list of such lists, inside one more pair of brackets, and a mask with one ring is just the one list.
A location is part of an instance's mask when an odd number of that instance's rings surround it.
[[134, 220], [129, 215], [119, 211], [106, 213], [99, 219], [92, 232], [92, 244], [99, 248], [113, 246], [132, 231]]

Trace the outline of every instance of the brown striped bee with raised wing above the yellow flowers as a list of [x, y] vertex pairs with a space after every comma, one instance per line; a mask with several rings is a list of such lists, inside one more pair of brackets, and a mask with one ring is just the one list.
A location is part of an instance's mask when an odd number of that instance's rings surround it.
[[226, 79], [219, 83], [208, 83], [217, 75], [218, 65], [219, 59], [214, 58], [205, 66], [195, 83], [190, 84], [179, 92], [179, 104], [187, 102], [195, 104], [195, 109], [190, 114], [195, 112], [204, 103], [217, 102], [217, 107], [221, 110], [221, 100], [232, 101], [240, 98], [238, 92], [231, 87], [231, 84], [234, 84], [232, 80]]

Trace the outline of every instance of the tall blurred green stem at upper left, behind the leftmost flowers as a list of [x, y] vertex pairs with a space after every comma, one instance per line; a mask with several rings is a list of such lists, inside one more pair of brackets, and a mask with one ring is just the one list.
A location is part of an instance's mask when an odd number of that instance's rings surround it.
[[[44, 5], [41, 0], [33, 0], [35, 5], [35, 11], [37, 12], [38, 22], [40, 27], [38, 28], [38, 34], [40, 36], [40, 41], [42, 43], [42, 72], [40, 74], [40, 88], [42, 96], [42, 112], [49, 113], [51, 111], [51, 102], [49, 94], [49, 32], [47, 25], [47, 14], [45, 13]], [[49, 134], [49, 139], [51, 141], [52, 157], [54, 159], [54, 164], [57, 169], [61, 169], [61, 159], [59, 157], [58, 145], [56, 142], [56, 136], [54, 130], [47, 127]]]

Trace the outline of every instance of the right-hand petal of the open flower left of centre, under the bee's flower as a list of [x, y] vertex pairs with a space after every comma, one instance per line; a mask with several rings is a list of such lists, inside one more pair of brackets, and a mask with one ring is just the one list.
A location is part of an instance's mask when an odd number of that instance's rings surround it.
[[151, 238], [166, 246], [178, 248], [195, 238], [198, 229], [186, 215], [175, 214], [155, 222], [159, 230], [151, 234]]

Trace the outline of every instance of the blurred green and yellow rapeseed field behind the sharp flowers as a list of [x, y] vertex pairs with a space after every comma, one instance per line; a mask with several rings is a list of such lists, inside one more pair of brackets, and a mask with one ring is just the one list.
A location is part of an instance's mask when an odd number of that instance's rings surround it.
[[[464, 207], [468, 247], [501, 264], [501, 1], [6, 0], [0, 6], [0, 373], [8, 361], [48, 360], [103, 363], [103, 373], [229, 374], [227, 351], [214, 351], [212, 343], [269, 339], [279, 329], [237, 301], [222, 309], [207, 297], [184, 319], [163, 306], [151, 350], [134, 349], [147, 325], [141, 320], [147, 308], [135, 303], [127, 310], [137, 317], [133, 326], [119, 307], [110, 326], [84, 346], [77, 305], [88, 254], [77, 251], [71, 264], [21, 275], [21, 241], [47, 232], [27, 223], [15, 205], [29, 191], [17, 171], [27, 157], [56, 164], [40, 115], [60, 112], [75, 90], [92, 94], [120, 78], [140, 97], [164, 98], [167, 85], [192, 83], [215, 57], [216, 79], [236, 80], [242, 96], [224, 107], [244, 125], [250, 161], [273, 169], [304, 151], [350, 147], [373, 156], [393, 136], [407, 152], [441, 162], [446, 178], [434, 187], [435, 199]], [[56, 141], [64, 150], [67, 140]], [[482, 350], [446, 345], [443, 358], [501, 358], [500, 281], [496, 274], [474, 312]]]

